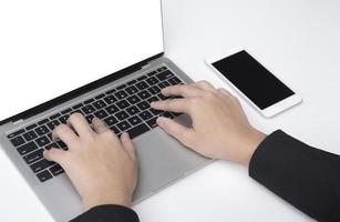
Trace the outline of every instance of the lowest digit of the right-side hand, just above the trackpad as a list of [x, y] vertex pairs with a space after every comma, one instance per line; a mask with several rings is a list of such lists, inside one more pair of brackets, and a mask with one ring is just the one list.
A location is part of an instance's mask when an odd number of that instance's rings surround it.
[[177, 139], [183, 144], [190, 147], [192, 138], [193, 138], [193, 130], [183, 127], [182, 124], [175, 122], [174, 120], [167, 118], [158, 118], [157, 124], [168, 134]]

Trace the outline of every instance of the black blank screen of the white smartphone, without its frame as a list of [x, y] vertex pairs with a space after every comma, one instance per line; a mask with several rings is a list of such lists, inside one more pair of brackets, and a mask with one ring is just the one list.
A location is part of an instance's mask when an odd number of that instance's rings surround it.
[[216, 61], [213, 67], [261, 110], [295, 94], [246, 51]]

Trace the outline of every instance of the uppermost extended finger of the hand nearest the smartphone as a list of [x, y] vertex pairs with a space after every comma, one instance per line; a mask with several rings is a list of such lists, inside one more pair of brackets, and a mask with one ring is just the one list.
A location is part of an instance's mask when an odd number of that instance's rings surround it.
[[164, 95], [181, 95], [184, 98], [193, 98], [202, 95], [204, 91], [193, 85], [181, 84], [162, 89]]

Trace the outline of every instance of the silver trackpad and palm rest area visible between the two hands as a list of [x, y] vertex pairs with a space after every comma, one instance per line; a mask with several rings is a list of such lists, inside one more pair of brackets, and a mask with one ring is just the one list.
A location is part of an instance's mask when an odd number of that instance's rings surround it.
[[140, 161], [134, 202], [208, 161], [182, 145], [159, 128], [137, 138], [134, 142]]

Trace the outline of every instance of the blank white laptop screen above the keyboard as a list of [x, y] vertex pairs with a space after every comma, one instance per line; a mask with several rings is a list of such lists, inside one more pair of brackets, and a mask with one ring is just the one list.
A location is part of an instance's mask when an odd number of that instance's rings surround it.
[[0, 21], [0, 120], [163, 52], [159, 0], [11, 0]]

